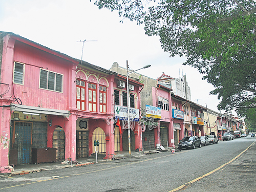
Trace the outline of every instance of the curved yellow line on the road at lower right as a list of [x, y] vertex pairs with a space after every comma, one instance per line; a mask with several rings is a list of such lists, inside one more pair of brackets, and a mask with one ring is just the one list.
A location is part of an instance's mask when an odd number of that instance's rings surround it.
[[[175, 188], [175, 189], [173, 189], [173, 190], [170, 190], [170, 191], [168, 191], [168, 192], [178, 191], [178, 190], [182, 189], [183, 187], [185, 187], [185, 186], [188, 185], [188, 184], [195, 183], [196, 181], [198, 181], [198, 180], [200, 180], [200, 179], [202, 179], [202, 178], [204, 178], [204, 177], [206, 177], [206, 176], [209, 176], [209, 175], [211, 175], [211, 174], [217, 172], [217, 170], [220, 170], [220, 169], [221, 169], [222, 167], [224, 167], [225, 165], [231, 163], [232, 161], [234, 161], [234, 160], [236, 160], [238, 157], [240, 157], [240, 156], [241, 156], [244, 152], [246, 152], [252, 145], [254, 145], [255, 142], [256, 142], [256, 141], [254, 141], [254, 142], [253, 142], [250, 146], [248, 146], [243, 152], [241, 152], [239, 155], [237, 155], [236, 157], [234, 157], [233, 159], [231, 159], [231, 160], [228, 161], [227, 163], [224, 163], [223, 165], [219, 166], [218, 168], [212, 170], [211, 172], [209, 172], [209, 173], [207, 173], [207, 174], [204, 174], [204, 175], [202, 175], [202, 176], [200, 176], [200, 177], [198, 177], [198, 178], [196, 178], [196, 179], [193, 179], [192, 181], [189, 181], [189, 182], [187, 182], [187, 183], [185, 183], [185, 184], [183, 184], [183, 185], [181, 185], [181, 186], [179, 186], [179, 187], [177, 187], [177, 188]], [[223, 169], [224, 169], [224, 168], [223, 168]], [[223, 169], [222, 169], [222, 170], [223, 170]]]

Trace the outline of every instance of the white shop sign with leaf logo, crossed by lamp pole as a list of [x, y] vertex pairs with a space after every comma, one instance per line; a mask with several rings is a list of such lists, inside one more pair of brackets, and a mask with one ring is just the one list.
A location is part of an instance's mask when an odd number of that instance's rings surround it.
[[[130, 120], [139, 121], [139, 110], [134, 108], [129, 108]], [[115, 105], [115, 119], [128, 120], [128, 108], [126, 106]]]

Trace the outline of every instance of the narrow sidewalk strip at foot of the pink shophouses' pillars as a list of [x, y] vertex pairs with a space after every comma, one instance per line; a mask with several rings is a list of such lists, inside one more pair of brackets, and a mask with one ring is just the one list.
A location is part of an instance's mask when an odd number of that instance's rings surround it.
[[[155, 150], [148, 150], [145, 151], [144, 154], [148, 153], [158, 153]], [[122, 158], [128, 158], [129, 152], [116, 152], [115, 159], [122, 159]], [[131, 157], [138, 157], [142, 156], [142, 152], [131, 152]], [[112, 161], [112, 159], [104, 159], [104, 154], [98, 154], [98, 162], [101, 161]], [[56, 162], [49, 162], [49, 163], [38, 163], [38, 164], [18, 164], [17, 166], [14, 166], [14, 172], [6, 173], [6, 174], [0, 174], [3, 176], [15, 176], [15, 175], [25, 175], [25, 174], [31, 174], [35, 172], [41, 172], [44, 170], [53, 170], [53, 169], [60, 169], [60, 168], [66, 168], [66, 167], [74, 167], [74, 166], [83, 166], [83, 165], [89, 165], [96, 163], [96, 154], [92, 154], [91, 157], [84, 157], [76, 159], [78, 162], [77, 164], [61, 164], [65, 160], [60, 160]]]

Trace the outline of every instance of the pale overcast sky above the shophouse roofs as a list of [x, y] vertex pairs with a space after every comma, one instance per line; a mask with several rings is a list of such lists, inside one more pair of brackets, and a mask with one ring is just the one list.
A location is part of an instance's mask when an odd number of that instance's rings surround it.
[[[186, 74], [191, 89], [191, 101], [218, 112], [217, 96], [209, 95], [214, 87], [202, 80], [202, 75], [190, 66], [182, 66], [185, 58], [169, 57], [159, 37], [145, 35], [143, 26], [124, 20], [117, 12], [99, 10], [89, 0], [0, 0], [0, 31], [13, 32], [43, 46], [77, 59], [110, 69], [113, 62], [151, 78], [164, 72], [171, 77]], [[96, 41], [90, 41], [96, 40]], [[224, 113], [224, 111], [222, 111]]]

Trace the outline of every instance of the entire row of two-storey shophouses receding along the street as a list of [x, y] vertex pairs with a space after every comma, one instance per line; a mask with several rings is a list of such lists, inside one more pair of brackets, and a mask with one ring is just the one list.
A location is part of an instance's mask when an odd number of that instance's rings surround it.
[[128, 68], [116, 62], [106, 70], [10, 32], [0, 32], [0, 67], [0, 167], [31, 163], [40, 148], [56, 148], [57, 160], [88, 157], [94, 140], [111, 159], [129, 150], [127, 109], [132, 151], [244, 126], [191, 102], [185, 76], [129, 70], [127, 83]]

